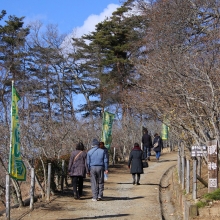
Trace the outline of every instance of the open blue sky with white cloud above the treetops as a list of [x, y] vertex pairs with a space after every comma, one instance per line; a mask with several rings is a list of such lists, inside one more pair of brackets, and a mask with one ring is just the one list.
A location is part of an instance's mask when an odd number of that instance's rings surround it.
[[[25, 23], [40, 20], [43, 24], [57, 24], [61, 33], [71, 33], [86, 26], [94, 26], [110, 16], [121, 0], [1, 0], [0, 10], [7, 15], [25, 16]], [[80, 29], [81, 28], [81, 29]]]

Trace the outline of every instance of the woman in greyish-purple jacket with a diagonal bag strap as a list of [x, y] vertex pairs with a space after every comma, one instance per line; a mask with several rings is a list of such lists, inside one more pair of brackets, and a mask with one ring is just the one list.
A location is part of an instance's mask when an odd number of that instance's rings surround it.
[[71, 153], [68, 173], [72, 178], [74, 199], [80, 199], [83, 195], [83, 178], [89, 173], [87, 167], [85, 147], [82, 142], [76, 145], [76, 150]]

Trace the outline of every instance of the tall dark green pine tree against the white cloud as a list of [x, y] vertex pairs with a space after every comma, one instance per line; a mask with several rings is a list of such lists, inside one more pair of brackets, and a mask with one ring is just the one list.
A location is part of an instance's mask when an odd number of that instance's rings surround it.
[[[100, 111], [119, 104], [124, 112], [124, 93], [131, 85], [134, 77], [134, 65], [130, 58], [139, 48], [134, 48], [134, 42], [142, 37], [144, 20], [141, 16], [128, 14], [133, 1], [127, 1], [118, 8], [110, 18], [96, 25], [94, 32], [74, 39], [74, 46], [78, 47], [75, 57], [84, 60], [80, 63], [80, 70], [86, 73], [89, 97], [99, 99], [91, 101], [92, 105], [83, 105], [80, 111], [100, 115]], [[138, 45], [138, 44], [136, 44]], [[83, 68], [81, 68], [83, 67]], [[85, 79], [85, 75], [82, 75]], [[89, 80], [90, 79], [90, 80]], [[98, 114], [99, 113], [99, 114]]]

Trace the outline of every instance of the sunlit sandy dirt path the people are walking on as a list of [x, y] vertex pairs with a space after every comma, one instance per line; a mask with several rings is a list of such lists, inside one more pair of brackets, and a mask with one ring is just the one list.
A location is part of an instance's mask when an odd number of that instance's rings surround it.
[[[139, 186], [132, 185], [131, 174], [126, 165], [112, 166], [105, 183], [104, 201], [91, 200], [90, 182], [87, 178], [84, 196], [80, 200], [74, 200], [69, 188], [63, 194], [53, 196], [49, 203], [38, 201], [32, 212], [29, 207], [11, 210], [11, 219], [163, 219], [159, 198], [160, 181], [163, 174], [176, 164], [176, 157], [176, 153], [167, 153], [161, 156], [159, 163], [152, 159], [141, 175]], [[169, 210], [166, 215], [169, 216]]]

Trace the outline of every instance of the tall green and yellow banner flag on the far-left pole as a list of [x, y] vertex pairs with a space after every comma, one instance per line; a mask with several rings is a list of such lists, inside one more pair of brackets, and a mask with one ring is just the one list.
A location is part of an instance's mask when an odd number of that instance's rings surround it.
[[11, 103], [11, 143], [9, 155], [9, 174], [12, 178], [25, 181], [26, 180], [26, 167], [21, 160], [20, 152], [20, 124], [18, 118], [18, 101], [20, 96], [12, 83], [12, 103]]

